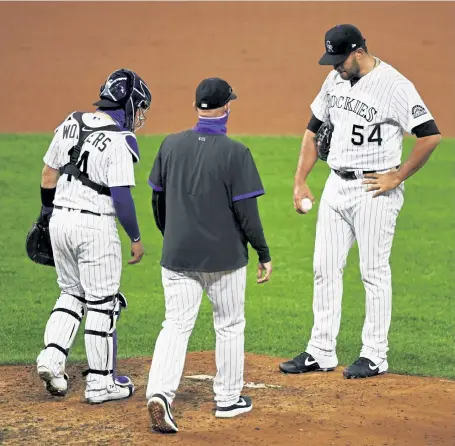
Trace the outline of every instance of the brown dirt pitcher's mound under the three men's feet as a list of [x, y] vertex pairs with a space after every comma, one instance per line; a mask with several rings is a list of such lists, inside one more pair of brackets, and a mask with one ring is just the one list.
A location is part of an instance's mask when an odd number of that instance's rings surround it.
[[[188, 355], [184, 376], [214, 375], [213, 352]], [[120, 361], [136, 385], [129, 400], [90, 406], [83, 401], [83, 365], [70, 365], [70, 392], [49, 396], [32, 366], [3, 366], [0, 444], [90, 445], [455, 445], [455, 382], [384, 375], [344, 380], [331, 373], [283, 375], [277, 358], [247, 355], [249, 414], [218, 420], [212, 383], [182, 379], [174, 404], [180, 432], [151, 432], [145, 387], [150, 361]]]

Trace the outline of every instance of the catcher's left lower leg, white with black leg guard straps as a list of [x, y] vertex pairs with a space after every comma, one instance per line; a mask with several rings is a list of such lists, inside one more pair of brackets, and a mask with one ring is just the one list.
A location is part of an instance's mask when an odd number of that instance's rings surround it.
[[44, 350], [36, 362], [55, 377], [63, 377], [66, 358], [86, 312], [85, 299], [62, 292], [51, 312], [44, 332]]

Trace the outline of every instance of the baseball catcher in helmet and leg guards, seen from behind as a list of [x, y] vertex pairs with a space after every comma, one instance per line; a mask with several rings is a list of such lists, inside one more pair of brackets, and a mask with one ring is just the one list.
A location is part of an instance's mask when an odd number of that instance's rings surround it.
[[36, 362], [49, 393], [68, 390], [66, 360], [85, 317], [90, 404], [130, 397], [134, 386], [116, 375], [116, 324], [127, 307], [120, 293], [122, 250], [115, 218], [131, 239], [130, 264], [144, 250], [131, 187], [139, 160], [135, 131], [150, 107], [151, 93], [134, 72], [113, 72], [101, 86], [94, 112], [73, 112], [56, 129], [44, 156], [42, 210], [27, 235], [28, 256], [55, 266], [60, 296], [44, 332]]

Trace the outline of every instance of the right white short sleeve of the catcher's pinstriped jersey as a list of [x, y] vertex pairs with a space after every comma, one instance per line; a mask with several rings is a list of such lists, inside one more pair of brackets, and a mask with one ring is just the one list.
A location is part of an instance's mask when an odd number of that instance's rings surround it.
[[119, 139], [110, 148], [107, 160], [107, 186], [135, 186], [133, 157], [126, 143]]

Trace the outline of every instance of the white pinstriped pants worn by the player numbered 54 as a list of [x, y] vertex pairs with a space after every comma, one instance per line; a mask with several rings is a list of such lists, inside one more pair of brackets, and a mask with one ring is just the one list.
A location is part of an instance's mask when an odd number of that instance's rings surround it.
[[331, 172], [319, 205], [313, 263], [314, 326], [306, 351], [321, 367], [338, 364], [336, 338], [341, 321], [343, 268], [355, 240], [366, 292], [360, 356], [376, 364], [387, 358], [392, 314], [389, 257], [404, 186], [373, 198], [362, 180], [343, 180]]

